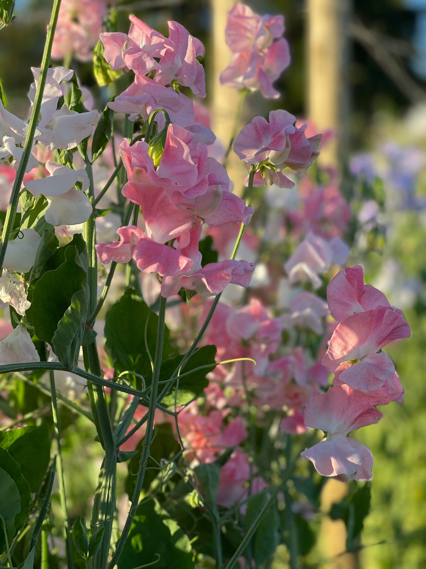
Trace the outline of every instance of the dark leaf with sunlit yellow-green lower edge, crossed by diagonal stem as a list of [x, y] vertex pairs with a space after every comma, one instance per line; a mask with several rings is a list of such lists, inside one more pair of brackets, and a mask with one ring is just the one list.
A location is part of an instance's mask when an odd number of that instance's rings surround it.
[[[177, 405], [186, 405], [191, 399], [201, 395], [208, 385], [208, 380], [206, 374], [214, 369], [215, 364], [216, 347], [209, 345], [203, 346], [197, 349], [193, 355], [189, 358], [185, 366], [181, 370], [182, 373], [187, 373], [191, 369], [199, 368], [203, 365], [212, 364], [211, 368], [199, 369], [196, 372], [189, 374], [189, 376], [182, 377], [179, 379], [178, 393], [176, 403]], [[168, 380], [174, 370], [178, 367], [179, 362], [181, 362], [182, 356], [177, 356], [171, 360], [165, 360], [161, 362], [160, 370], [160, 380]], [[174, 407], [174, 397], [176, 393], [176, 385], [174, 384], [172, 389], [167, 395], [165, 395], [162, 400], [162, 405], [165, 407]]]

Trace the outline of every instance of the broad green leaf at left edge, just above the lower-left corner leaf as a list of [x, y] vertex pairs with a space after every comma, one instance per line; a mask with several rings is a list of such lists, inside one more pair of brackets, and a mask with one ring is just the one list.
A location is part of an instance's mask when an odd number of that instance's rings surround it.
[[0, 431], [0, 447], [7, 450], [19, 464], [31, 492], [38, 492], [50, 459], [51, 444], [47, 423], [40, 427]]

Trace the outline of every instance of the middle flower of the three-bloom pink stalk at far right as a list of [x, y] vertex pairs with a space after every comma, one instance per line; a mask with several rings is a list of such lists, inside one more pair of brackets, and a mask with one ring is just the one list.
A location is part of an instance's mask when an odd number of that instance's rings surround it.
[[410, 335], [402, 312], [391, 306], [357, 312], [333, 332], [323, 365], [353, 389], [380, 389], [395, 373], [391, 358], [381, 349]]

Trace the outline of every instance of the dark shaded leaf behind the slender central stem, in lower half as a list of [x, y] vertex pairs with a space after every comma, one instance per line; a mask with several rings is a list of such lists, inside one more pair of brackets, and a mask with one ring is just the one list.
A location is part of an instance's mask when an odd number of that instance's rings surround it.
[[[139, 461], [142, 454], [144, 439], [140, 440], [136, 447], [136, 455], [132, 457], [128, 463], [128, 476], [126, 479], [126, 492], [132, 499], [135, 490], [136, 476], [139, 469]], [[179, 451], [180, 447], [177, 440], [174, 438], [172, 425], [170, 423], [163, 423], [154, 427], [154, 438], [149, 448], [149, 455], [153, 457], [157, 463], [162, 459], [169, 460]], [[148, 460], [148, 467], [156, 467], [154, 460]], [[145, 472], [143, 489], [147, 491], [152, 481], [161, 475], [161, 472], [154, 469], [149, 469]]]

